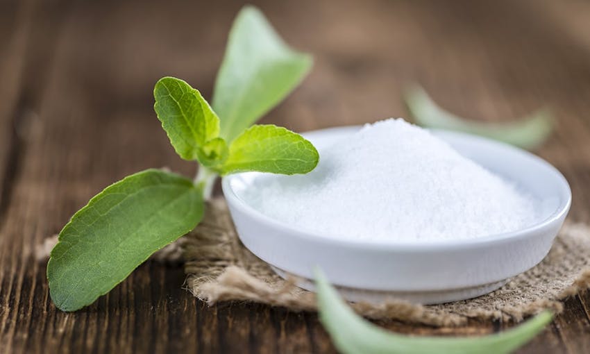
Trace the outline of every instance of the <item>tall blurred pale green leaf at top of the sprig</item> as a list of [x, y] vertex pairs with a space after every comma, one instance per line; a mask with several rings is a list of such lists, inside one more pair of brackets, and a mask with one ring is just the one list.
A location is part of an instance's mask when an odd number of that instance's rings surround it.
[[228, 142], [271, 110], [301, 82], [311, 56], [289, 49], [253, 6], [239, 12], [215, 83], [212, 106]]

